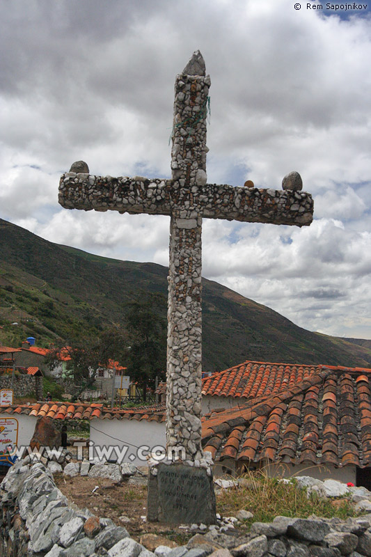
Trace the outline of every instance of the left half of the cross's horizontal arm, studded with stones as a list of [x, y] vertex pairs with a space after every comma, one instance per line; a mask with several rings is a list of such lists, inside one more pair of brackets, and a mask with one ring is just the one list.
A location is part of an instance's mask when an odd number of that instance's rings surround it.
[[68, 172], [59, 182], [58, 202], [66, 209], [171, 214], [172, 180], [112, 178]]

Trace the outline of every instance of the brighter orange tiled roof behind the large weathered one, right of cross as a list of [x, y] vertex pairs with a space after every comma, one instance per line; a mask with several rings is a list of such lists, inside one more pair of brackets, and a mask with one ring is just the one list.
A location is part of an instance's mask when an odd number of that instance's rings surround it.
[[245, 361], [239, 366], [203, 378], [203, 395], [259, 398], [269, 396], [303, 379], [308, 379], [322, 366]]

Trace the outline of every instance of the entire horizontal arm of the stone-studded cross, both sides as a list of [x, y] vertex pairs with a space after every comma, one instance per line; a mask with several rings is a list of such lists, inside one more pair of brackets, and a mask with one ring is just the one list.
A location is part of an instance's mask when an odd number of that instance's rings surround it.
[[215, 184], [183, 189], [173, 180], [140, 176], [112, 178], [68, 172], [61, 177], [58, 201], [68, 209], [86, 211], [176, 214], [294, 226], [308, 226], [313, 220], [313, 199], [305, 191]]

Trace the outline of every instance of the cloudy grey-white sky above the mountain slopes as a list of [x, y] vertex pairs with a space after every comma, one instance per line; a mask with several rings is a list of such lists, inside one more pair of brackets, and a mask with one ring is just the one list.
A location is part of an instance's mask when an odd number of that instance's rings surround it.
[[168, 217], [65, 210], [58, 179], [80, 159], [169, 178], [175, 74], [200, 49], [208, 182], [281, 189], [296, 170], [315, 199], [309, 228], [205, 219], [203, 275], [311, 331], [371, 338], [371, 3], [319, 6], [3, 0], [0, 217], [167, 265]]

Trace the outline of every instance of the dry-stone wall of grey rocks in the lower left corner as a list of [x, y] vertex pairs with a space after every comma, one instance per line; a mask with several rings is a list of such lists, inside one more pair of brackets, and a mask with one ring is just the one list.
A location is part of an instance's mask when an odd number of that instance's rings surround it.
[[126, 528], [72, 505], [41, 462], [32, 464], [27, 457], [10, 469], [0, 489], [0, 557], [88, 557], [107, 551], [154, 557]]

